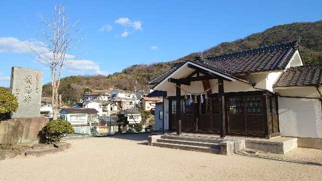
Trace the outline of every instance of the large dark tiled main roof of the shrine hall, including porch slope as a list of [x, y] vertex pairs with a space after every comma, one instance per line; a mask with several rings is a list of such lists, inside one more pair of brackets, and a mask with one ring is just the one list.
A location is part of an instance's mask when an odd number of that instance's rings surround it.
[[[196, 57], [194, 60], [188, 61], [195, 63], [198, 62], [199, 65], [215, 69], [229, 75], [283, 70], [291, 60], [297, 47], [297, 42], [290, 42], [206, 58]], [[151, 80], [149, 83], [159, 83], [186, 62], [174, 64], [167, 72]]]

